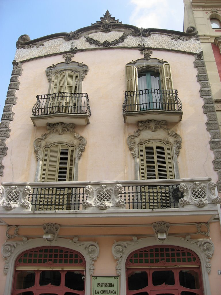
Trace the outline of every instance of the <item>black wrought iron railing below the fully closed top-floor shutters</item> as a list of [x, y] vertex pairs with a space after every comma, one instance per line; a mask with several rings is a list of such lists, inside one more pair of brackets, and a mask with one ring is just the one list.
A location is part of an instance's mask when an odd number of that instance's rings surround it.
[[37, 95], [37, 101], [32, 108], [33, 116], [59, 113], [88, 114], [90, 117], [88, 94], [58, 92]]

